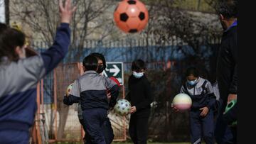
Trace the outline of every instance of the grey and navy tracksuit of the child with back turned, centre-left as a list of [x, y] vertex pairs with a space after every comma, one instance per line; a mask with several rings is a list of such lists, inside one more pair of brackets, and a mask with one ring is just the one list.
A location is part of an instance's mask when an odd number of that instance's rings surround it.
[[[111, 99], [107, 99], [110, 89]], [[69, 96], [64, 96], [64, 104], [81, 103], [86, 143], [105, 144], [104, 128], [107, 110], [116, 103], [118, 85], [95, 71], [86, 71], [75, 80]]]

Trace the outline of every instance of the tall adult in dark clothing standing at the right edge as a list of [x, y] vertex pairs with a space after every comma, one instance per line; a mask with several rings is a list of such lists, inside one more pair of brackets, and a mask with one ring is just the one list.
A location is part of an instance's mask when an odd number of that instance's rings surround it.
[[[235, 133], [228, 124], [232, 123], [229, 116], [236, 115], [237, 108], [223, 116], [225, 106], [229, 101], [237, 99], [238, 94], [238, 33], [237, 33], [237, 14], [236, 3], [223, 2], [218, 7], [220, 22], [224, 33], [217, 62], [217, 81], [220, 90], [220, 109], [215, 128], [215, 138], [218, 144], [236, 143]], [[236, 121], [236, 118], [233, 119]]]

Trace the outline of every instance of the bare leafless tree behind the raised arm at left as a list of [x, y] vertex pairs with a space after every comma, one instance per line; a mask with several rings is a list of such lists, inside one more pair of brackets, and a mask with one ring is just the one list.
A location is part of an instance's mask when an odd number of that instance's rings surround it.
[[[64, 1], [65, 2], [65, 1]], [[105, 38], [113, 30], [112, 19], [104, 16], [105, 11], [110, 9], [114, 0], [73, 0], [73, 5], [77, 6], [73, 20], [70, 23], [71, 43], [68, 54], [68, 61], [80, 62], [85, 40], [92, 33], [99, 33], [99, 39]], [[39, 40], [50, 46], [55, 37], [55, 30], [59, 25], [58, 0], [14, 0], [11, 1], [11, 19], [26, 23], [26, 26], [33, 31], [32, 40]], [[25, 31], [26, 33], [26, 31]], [[68, 77], [63, 74], [63, 77]], [[65, 79], [65, 78], [63, 78]], [[57, 93], [58, 111], [60, 123], [58, 126], [57, 138], [63, 138], [65, 122], [68, 117], [68, 106], [62, 102], [63, 93]]]

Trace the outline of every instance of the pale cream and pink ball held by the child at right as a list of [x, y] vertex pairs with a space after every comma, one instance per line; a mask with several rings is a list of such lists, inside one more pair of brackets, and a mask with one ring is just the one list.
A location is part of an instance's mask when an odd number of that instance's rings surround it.
[[177, 94], [174, 96], [172, 105], [175, 109], [184, 111], [191, 108], [192, 99], [190, 96], [188, 96], [188, 94]]

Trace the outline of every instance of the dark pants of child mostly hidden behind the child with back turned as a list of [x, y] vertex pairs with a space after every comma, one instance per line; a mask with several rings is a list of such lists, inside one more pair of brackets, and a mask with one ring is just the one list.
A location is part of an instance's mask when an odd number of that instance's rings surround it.
[[[79, 119], [79, 121], [82, 125], [82, 128], [85, 130], [85, 123], [84, 123], [83, 119]], [[105, 137], [106, 144], [112, 143], [112, 141], [114, 140], [114, 131], [113, 131], [111, 123], [110, 123], [110, 118], [107, 118], [106, 121], [104, 121], [104, 123], [102, 125], [102, 132]], [[87, 143], [92, 143], [90, 141], [90, 136], [87, 135], [86, 133], [85, 133], [84, 141]]]

